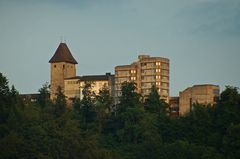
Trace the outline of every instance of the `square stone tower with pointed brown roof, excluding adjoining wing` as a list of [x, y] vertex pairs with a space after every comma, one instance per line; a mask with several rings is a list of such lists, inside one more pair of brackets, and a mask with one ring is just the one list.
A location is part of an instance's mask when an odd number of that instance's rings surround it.
[[55, 54], [49, 60], [51, 64], [51, 99], [56, 97], [57, 88], [64, 90], [64, 79], [76, 76], [77, 61], [72, 56], [66, 43], [60, 43]]

